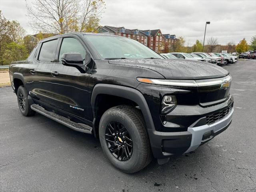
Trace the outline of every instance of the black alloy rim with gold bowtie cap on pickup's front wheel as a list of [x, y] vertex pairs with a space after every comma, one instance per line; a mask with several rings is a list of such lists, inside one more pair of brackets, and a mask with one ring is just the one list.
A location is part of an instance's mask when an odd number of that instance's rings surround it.
[[132, 138], [120, 122], [108, 123], [106, 127], [105, 140], [111, 154], [120, 161], [129, 160], [132, 156]]

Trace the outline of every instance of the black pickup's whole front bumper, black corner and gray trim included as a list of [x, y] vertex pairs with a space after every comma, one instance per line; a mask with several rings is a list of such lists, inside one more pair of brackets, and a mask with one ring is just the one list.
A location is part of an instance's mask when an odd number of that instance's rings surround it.
[[[232, 104], [233, 105], [233, 104]], [[184, 154], [196, 150], [228, 128], [232, 122], [234, 109], [221, 120], [212, 124], [202, 124], [199, 119], [184, 132], [158, 132], [148, 130], [152, 153], [155, 158], [168, 158], [174, 154]]]

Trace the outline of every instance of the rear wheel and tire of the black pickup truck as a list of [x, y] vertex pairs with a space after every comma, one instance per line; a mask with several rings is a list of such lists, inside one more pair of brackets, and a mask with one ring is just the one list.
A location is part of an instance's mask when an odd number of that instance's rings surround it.
[[24, 86], [19, 86], [17, 91], [17, 100], [22, 115], [33, 116], [36, 113], [30, 108], [30, 104], [28, 103], [28, 92]]

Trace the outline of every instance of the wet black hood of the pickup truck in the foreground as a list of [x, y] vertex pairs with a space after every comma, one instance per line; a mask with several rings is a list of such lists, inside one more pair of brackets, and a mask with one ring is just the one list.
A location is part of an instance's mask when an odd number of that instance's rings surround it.
[[[166, 79], [210, 79], [228, 75], [228, 71], [207, 62], [180, 59], [120, 59], [110, 64], [154, 70]], [[150, 77], [149, 77], [150, 78]]]

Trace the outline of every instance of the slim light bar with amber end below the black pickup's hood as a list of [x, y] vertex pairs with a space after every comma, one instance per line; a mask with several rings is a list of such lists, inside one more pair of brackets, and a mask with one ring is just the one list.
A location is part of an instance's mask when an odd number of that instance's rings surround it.
[[167, 79], [151, 79], [151, 78], [137, 78], [138, 82], [156, 85], [169, 85], [178, 87], [204, 87], [221, 85], [222, 83], [231, 82], [230, 75], [222, 79], [205, 79], [205, 80], [167, 80]]

